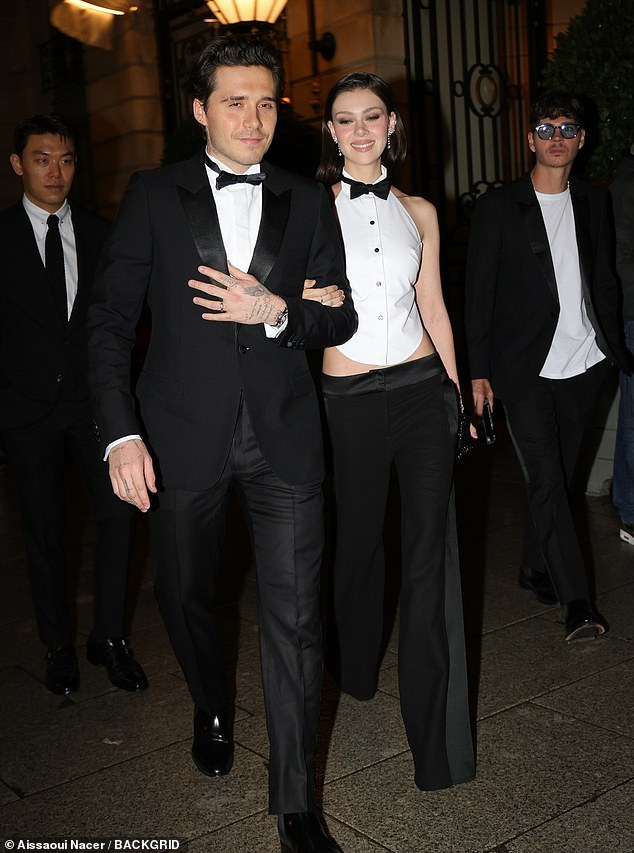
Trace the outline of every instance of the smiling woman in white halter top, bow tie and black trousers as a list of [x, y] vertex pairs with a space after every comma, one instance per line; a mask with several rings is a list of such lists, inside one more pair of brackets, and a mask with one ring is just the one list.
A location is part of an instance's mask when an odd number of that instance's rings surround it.
[[[328, 95], [318, 180], [332, 186], [358, 331], [324, 353], [337, 512], [333, 600], [341, 689], [371, 699], [383, 636], [383, 523], [401, 493], [401, 710], [421, 789], [474, 775], [453, 471], [458, 374], [434, 206], [388, 180], [405, 156], [387, 84], [352, 73]], [[340, 291], [307, 282], [306, 298]], [[389, 567], [388, 567], [389, 568]]]

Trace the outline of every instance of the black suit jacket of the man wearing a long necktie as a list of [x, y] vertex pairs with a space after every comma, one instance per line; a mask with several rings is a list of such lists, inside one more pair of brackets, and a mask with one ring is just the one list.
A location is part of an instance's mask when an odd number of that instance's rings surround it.
[[60, 316], [22, 201], [0, 213], [0, 428], [43, 423], [64, 394], [88, 402], [86, 312], [109, 223], [71, 205], [77, 296]]

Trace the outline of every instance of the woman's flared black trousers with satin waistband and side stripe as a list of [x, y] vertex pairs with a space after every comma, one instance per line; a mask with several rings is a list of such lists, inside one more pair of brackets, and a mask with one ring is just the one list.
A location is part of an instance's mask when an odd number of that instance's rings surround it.
[[455, 388], [436, 355], [322, 381], [337, 512], [332, 587], [341, 688], [370, 699], [378, 685], [383, 525], [394, 465], [401, 494], [401, 711], [416, 784], [447, 787], [473, 775], [453, 513]]

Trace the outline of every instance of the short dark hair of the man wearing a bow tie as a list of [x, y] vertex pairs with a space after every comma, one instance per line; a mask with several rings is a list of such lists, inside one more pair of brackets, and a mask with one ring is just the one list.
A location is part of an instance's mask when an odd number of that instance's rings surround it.
[[207, 106], [207, 99], [216, 85], [216, 70], [221, 66], [268, 68], [273, 75], [276, 97], [282, 93], [282, 60], [271, 42], [258, 36], [223, 36], [207, 45], [189, 78], [190, 92], [203, 106]]

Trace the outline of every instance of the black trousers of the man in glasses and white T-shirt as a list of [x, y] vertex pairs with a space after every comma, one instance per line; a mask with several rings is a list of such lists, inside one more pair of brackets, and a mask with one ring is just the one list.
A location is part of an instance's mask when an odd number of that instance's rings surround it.
[[561, 604], [590, 598], [569, 489], [609, 369], [602, 361], [570, 379], [540, 378], [525, 399], [504, 404], [528, 495], [522, 565], [546, 569]]

